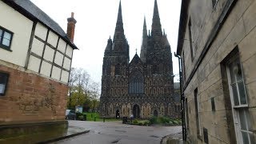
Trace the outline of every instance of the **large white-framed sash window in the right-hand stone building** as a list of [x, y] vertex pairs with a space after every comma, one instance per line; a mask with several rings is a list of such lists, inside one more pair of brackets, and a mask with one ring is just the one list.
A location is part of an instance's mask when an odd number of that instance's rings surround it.
[[252, 126], [250, 123], [246, 88], [242, 75], [242, 66], [238, 55], [239, 54], [235, 54], [234, 58], [230, 58], [226, 66], [230, 99], [234, 113], [234, 127], [238, 143], [251, 144], [254, 143], [254, 136], [251, 130]]

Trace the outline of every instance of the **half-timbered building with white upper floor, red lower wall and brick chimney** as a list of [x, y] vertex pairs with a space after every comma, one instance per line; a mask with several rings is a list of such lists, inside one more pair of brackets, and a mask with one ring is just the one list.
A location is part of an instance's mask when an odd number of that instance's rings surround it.
[[65, 128], [75, 19], [67, 35], [29, 0], [0, 1], [0, 18], [0, 135]]

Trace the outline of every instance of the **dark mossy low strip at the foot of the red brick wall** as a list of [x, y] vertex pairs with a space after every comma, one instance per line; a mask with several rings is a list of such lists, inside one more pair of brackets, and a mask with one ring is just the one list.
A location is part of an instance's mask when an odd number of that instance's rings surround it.
[[0, 126], [0, 143], [36, 143], [66, 134], [67, 121], [29, 122]]

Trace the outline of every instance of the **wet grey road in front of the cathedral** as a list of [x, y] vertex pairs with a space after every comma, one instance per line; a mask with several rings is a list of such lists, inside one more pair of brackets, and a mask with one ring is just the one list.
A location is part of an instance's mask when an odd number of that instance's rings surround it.
[[69, 125], [83, 127], [90, 132], [54, 143], [159, 144], [162, 137], [182, 132], [181, 126], [134, 126], [122, 124], [122, 122], [69, 121]]

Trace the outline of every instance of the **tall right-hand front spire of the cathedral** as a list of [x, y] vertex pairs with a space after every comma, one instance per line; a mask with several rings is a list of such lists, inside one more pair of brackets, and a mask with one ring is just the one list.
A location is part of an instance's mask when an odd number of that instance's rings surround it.
[[154, 0], [154, 14], [153, 14], [153, 20], [152, 21], [153, 22], [152, 22], [151, 35], [153, 37], [162, 36], [162, 27], [161, 27], [159, 12], [158, 12], [158, 2], [157, 2], [157, 0]]

